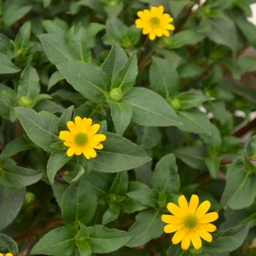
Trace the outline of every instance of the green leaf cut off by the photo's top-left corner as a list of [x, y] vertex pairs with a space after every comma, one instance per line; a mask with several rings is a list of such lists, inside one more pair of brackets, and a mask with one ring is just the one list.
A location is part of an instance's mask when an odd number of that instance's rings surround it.
[[12, 0], [3, 4], [0, 18], [0, 29], [12, 26], [16, 20], [23, 18], [23, 16], [31, 10], [31, 7], [32, 5], [29, 4], [28, 1], [23, 0]]

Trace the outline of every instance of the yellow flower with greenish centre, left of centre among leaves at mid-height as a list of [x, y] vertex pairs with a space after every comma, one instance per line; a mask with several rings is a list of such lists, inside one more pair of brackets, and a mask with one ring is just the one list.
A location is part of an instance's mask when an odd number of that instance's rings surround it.
[[102, 141], [106, 139], [105, 135], [96, 134], [99, 130], [99, 124], [91, 125], [91, 118], [75, 117], [75, 123], [72, 121], [67, 122], [69, 131], [61, 131], [59, 138], [65, 140], [64, 145], [69, 147], [67, 156], [72, 157], [73, 154], [84, 154], [86, 159], [91, 159], [97, 156], [96, 149], [102, 149]]

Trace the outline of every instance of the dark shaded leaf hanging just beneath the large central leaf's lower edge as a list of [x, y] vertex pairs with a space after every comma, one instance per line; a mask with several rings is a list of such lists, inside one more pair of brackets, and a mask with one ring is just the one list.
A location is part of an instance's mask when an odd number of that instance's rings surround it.
[[154, 148], [162, 138], [162, 134], [159, 132], [158, 127], [142, 127], [135, 124], [133, 129], [138, 137], [136, 143], [144, 150]]

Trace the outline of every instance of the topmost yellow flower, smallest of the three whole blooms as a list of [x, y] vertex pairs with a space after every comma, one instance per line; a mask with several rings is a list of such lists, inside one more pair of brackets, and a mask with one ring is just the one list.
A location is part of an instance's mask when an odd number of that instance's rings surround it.
[[169, 24], [173, 18], [169, 14], [163, 13], [164, 7], [152, 7], [151, 10], [143, 10], [137, 13], [139, 19], [135, 20], [136, 27], [143, 29], [143, 34], [149, 34], [149, 39], [154, 40], [157, 37], [170, 37], [168, 30], [174, 30], [174, 26]]

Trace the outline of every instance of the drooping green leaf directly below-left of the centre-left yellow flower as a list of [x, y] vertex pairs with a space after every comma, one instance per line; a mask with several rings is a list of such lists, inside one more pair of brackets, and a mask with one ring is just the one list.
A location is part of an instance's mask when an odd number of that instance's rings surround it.
[[69, 160], [70, 157], [67, 157], [67, 150], [56, 151], [50, 155], [47, 163], [47, 175], [50, 183], [54, 182], [54, 177], [58, 170]]

